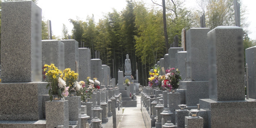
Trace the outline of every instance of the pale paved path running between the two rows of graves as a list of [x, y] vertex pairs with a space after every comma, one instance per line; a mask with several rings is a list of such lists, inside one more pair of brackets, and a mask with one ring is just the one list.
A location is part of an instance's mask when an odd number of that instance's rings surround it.
[[123, 107], [124, 112], [118, 128], [146, 128], [141, 113], [141, 96], [136, 96], [137, 107]]

